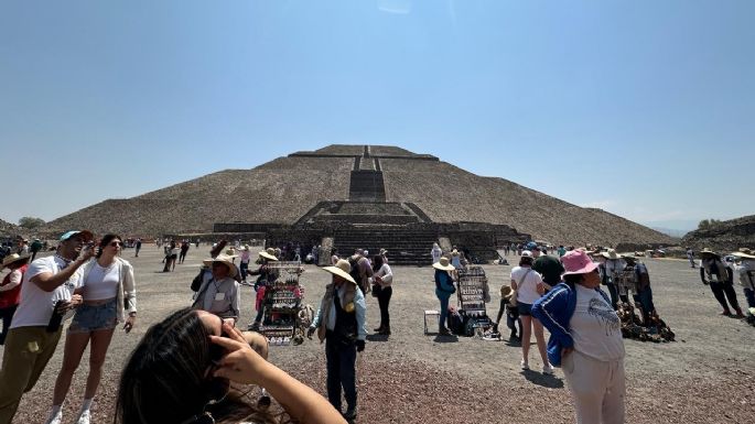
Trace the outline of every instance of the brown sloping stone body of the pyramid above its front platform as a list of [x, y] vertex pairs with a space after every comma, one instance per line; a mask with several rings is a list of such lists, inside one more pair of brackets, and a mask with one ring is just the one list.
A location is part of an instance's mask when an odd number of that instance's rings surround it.
[[507, 225], [563, 244], [673, 241], [601, 209], [475, 175], [429, 154], [380, 145], [330, 145], [252, 170], [219, 171], [141, 196], [105, 200], [51, 221], [48, 229], [157, 236], [209, 232], [214, 222], [291, 225], [319, 202], [349, 200], [352, 172], [360, 170], [381, 175], [386, 202], [413, 203], [433, 222]]

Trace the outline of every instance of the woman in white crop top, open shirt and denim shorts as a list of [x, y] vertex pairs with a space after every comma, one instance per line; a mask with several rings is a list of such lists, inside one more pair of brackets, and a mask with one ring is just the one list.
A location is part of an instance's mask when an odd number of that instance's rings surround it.
[[[137, 319], [137, 292], [133, 283], [133, 267], [118, 258], [122, 239], [116, 235], [105, 235], [99, 242], [96, 258], [83, 265], [83, 286], [76, 290], [84, 303], [68, 327], [63, 352], [63, 367], [55, 381], [53, 410], [47, 423], [62, 421], [61, 406], [65, 401], [71, 380], [89, 347], [89, 374], [87, 376], [84, 402], [78, 413], [77, 424], [89, 424], [89, 409], [97, 393], [103, 374], [105, 355], [118, 323], [129, 333]], [[126, 316], [128, 314], [128, 316]]]

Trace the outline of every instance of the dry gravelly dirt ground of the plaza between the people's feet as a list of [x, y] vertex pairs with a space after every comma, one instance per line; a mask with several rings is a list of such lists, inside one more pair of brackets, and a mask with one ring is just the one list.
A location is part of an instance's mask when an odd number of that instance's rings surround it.
[[[105, 365], [105, 377], [93, 407], [93, 423], [112, 422], [112, 405], [121, 367], [147, 328], [170, 312], [190, 304], [188, 289], [208, 247], [192, 248], [175, 272], [162, 273], [154, 246], [139, 258], [123, 258], [137, 271], [139, 320], [131, 334], [118, 331]], [[509, 257], [509, 261], [515, 258]], [[755, 417], [755, 328], [719, 316], [719, 306], [698, 270], [684, 261], [648, 260], [655, 303], [677, 334], [676, 343], [625, 340], [628, 423], [751, 423]], [[496, 314], [498, 287], [510, 267], [487, 265]], [[391, 300], [392, 335], [367, 344], [359, 360], [360, 423], [570, 423], [573, 407], [560, 370], [554, 377], [519, 369], [520, 347], [507, 341], [439, 338], [423, 334], [422, 311], [436, 309], [432, 268], [397, 267]], [[328, 274], [308, 265], [302, 275], [306, 303], [316, 307]], [[740, 301], [744, 297], [737, 294]], [[245, 325], [252, 317], [252, 290], [244, 287]], [[377, 327], [379, 311], [368, 298], [368, 327]], [[533, 343], [533, 340], [532, 340]], [[63, 357], [63, 340], [36, 387], [21, 402], [17, 423], [43, 423]], [[533, 346], [530, 366], [540, 369]], [[74, 420], [87, 373], [85, 354], [65, 405], [65, 423]], [[325, 393], [323, 346], [271, 347], [270, 360]]]

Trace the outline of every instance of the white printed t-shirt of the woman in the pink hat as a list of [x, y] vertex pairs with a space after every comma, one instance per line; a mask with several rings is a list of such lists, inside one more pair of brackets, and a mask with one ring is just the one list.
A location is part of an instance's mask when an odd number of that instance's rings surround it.
[[616, 311], [596, 290], [574, 284], [576, 307], [569, 320], [574, 350], [601, 361], [624, 358], [622, 325]]

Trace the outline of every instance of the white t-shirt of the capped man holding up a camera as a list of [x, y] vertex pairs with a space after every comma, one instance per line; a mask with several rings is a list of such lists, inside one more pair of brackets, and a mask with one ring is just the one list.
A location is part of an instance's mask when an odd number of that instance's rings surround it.
[[45, 292], [30, 280], [48, 272], [57, 274], [68, 262], [57, 254], [34, 260], [23, 275], [21, 285], [21, 304], [15, 309], [11, 328], [46, 326], [53, 316], [57, 301], [71, 301], [74, 291], [83, 286], [82, 269], [79, 268], [65, 283], [52, 292]]

